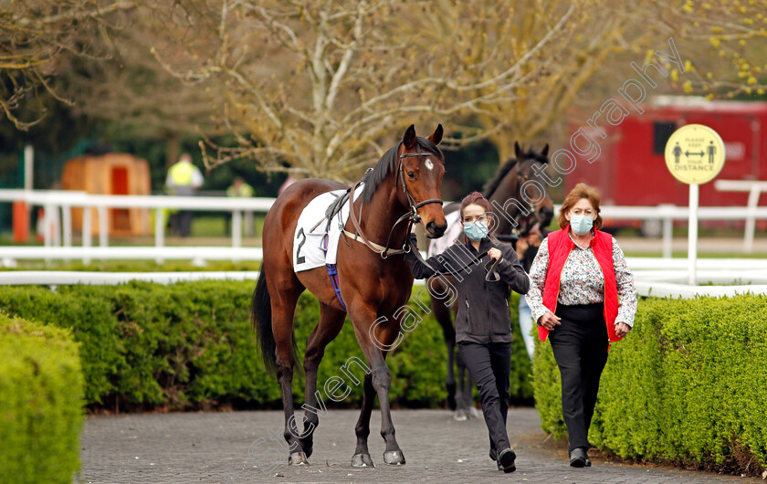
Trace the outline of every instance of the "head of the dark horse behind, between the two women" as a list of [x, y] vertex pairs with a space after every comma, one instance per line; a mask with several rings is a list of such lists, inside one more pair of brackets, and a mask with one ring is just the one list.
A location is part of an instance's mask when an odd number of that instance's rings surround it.
[[544, 173], [549, 163], [549, 145], [536, 152], [532, 147], [523, 151], [520, 143], [514, 142], [517, 157], [517, 180], [520, 202], [528, 205], [530, 214], [520, 219], [520, 235], [526, 235], [533, 226], [545, 228], [554, 216], [554, 204], [549, 196], [549, 180]]

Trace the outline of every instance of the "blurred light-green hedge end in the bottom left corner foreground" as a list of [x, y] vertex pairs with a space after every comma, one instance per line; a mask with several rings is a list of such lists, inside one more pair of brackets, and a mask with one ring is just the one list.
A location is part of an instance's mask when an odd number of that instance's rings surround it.
[[71, 482], [79, 469], [83, 378], [70, 331], [0, 313], [0, 476]]

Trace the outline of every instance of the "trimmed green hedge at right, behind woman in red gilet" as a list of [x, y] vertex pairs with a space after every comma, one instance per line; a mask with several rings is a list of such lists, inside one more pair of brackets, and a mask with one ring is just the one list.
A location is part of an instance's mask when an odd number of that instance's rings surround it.
[[[642, 300], [614, 343], [590, 442], [620, 458], [767, 468], [767, 297]], [[534, 364], [541, 426], [566, 437], [551, 345]]]

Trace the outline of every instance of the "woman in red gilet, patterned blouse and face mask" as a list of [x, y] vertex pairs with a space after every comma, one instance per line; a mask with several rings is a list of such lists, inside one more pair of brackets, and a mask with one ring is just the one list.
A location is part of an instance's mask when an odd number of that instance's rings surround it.
[[631, 330], [636, 313], [634, 276], [615, 238], [600, 230], [599, 203], [587, 184], [567, 195], [562, 230], [541, 243], [527, 294], [539, 338], [549, 338], [562, 375], [562, 414], [575, 468], [591, 466], [589, 426], [609, 342]]

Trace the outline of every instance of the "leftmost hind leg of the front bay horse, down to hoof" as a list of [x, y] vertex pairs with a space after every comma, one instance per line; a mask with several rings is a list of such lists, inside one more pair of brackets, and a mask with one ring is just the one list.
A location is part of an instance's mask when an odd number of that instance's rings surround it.
[[[298, 280], [298, 279], [296, 279]], [[292, 290], [291, 290], [292, 289]], [[277, 351], [277, 380], [282, 391], [282, 408], [285, 411], [285, 431], [283, 436], [288, 441], [288, 464], [309, 464], [299, 442], [299, 427], [296, 423], [293, 407], [293, 316], [296, 303], [303, 288], [269, 287], [272, 307], [272, 331]]]

